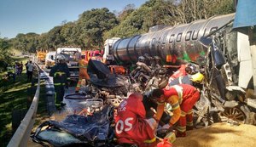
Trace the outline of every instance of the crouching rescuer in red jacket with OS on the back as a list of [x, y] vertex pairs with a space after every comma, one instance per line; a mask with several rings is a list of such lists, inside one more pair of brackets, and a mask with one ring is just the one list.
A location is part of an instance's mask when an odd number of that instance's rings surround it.
[[142, 94], [132, 93], [122, 101], [115, 123], [115, 135], [120, 145], [155, 146], [154, 129], [157, 123], [154, 118], [146, 119]]

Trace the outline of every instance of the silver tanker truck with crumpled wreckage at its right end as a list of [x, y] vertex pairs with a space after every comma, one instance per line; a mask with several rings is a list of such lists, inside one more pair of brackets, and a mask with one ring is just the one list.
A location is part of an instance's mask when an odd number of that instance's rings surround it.
[[235, 14], [225, 14], [189, 24], [154, 26], [148, 33], [116, 39], [104, 54], [113, 56], [112, 63], [124, 66], [136, 64], [144, 54], [159, 56], [166, 65], [180, 65], [184, 61], [196, 64], [206, 72], [207, 99], [211, 103], [212, 99], [236, 99], [239, 105], [224, 108], [223, 114], [239, 117], [237, 122], [255, 123], [249, 41], [247, 35], [232, 31], [234, 17]]

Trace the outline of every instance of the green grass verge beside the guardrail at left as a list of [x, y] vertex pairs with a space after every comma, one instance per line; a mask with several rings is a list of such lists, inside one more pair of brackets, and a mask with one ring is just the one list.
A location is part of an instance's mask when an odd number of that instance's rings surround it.
[[[15, 60], [18, 62], [22, 61], [23, 64], [26, 63], [26, 59], [23, 58], [16, 58]], [[5, 74], [6, 72], [0, 73], [0, 76], [3, 77]], [[31, 82], [26, 82], [26, 71], [23, 71], [21, 76], [16, 76], [15, 82], [13, 82], [12, 78], [9, 81], [0, 79], [0, 146], [7, 146], [13, 135], [12, 113], [15, 110], [21, 110], [26, 114], [26, 110], [30, 105], [28, 99], [33, 99], [35, 91], [34, 89], [31, 90]], [[46, 104], [43, 99], [44, 93], [45, 88], [42, 81], [35, 125], [48, 117]], [[14, 119], [17, 120], [18, 118], [15, 116]]]

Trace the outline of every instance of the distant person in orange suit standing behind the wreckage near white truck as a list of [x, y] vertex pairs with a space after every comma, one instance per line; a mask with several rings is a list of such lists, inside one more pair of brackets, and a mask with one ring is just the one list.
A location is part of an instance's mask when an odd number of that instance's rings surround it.
[[88, 67], [88, 60], [87, 59], [79, 59], [79, 82], [77, 84], [77, 87], [75, 89], [76, 93], [79, 93], [82, 80], [85, 79], [87, 82], [90, 80], [90, 76], [87, 73], [87, 67]]

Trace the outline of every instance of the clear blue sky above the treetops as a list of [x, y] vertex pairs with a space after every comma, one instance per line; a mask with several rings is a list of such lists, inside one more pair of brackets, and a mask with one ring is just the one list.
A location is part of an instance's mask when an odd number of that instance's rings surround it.
[[0, 0], [0, 37], [18, 33], [48, 32], [64, 20], [79, 20], [79, 14], [92, 8], [121, 11], [128, 4], [139, 8], [148, 0]]

